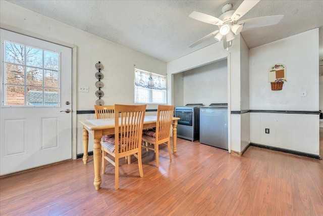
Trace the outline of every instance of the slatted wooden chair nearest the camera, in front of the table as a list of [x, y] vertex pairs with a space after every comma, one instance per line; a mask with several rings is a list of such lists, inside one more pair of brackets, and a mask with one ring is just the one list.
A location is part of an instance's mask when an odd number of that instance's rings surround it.
[[[141, 163], [141, 137], [146, 105], [115, 105], [115, 136], [102, 143], [102, 173], [105, 173], [106, 160], [115, 166], [115, 189], [118, 190], [119, 158], [130, 158], [134, 155], [138, 159], [139, 174], [143, 177]], [[117, 144], [117, 147], [116, 147]], [[115, 159], [107, 156], [111, 155]]]

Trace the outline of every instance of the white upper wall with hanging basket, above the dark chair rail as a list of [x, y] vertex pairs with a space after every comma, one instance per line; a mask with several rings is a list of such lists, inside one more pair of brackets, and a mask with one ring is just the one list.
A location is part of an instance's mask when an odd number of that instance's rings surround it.
[[[318, 28], [250, 49], [250, 109], [318, 111], [317, 62]], [[268, 82], [268, 69], [277, 63], [287, 68], [282, 91]]]

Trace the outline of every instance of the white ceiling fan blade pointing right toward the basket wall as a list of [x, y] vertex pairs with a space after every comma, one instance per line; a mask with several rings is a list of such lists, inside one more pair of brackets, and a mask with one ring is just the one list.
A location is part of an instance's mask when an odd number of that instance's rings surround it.
[[276, 25], [282, 20], [283, 17], [284, 15], [257, 17], [257, 18], [252, 18], [248, 20], [241, 20], [237, 24], [243, 24], [242, 31], [244, 31], [250, 28]]

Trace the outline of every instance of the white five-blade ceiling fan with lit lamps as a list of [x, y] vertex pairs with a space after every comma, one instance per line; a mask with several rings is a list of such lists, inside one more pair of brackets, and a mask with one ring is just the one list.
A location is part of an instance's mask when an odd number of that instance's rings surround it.
[[245, 0], [241, 3], [237, 10], [232, 10], [233, 6], [228, 3], [222, 7], [222, 15], [217, 18], [207, 14], [194, 11], [189, 15], [190, 18], [205, 22], [212, 25], [217, 25], [219, 30], [213, 31], [208, 35], [197, 40], [190, 46], [190, 48], [200, 44], [205, 39], [214, 36], [218, 41], [223, 40], [224, 49], [232, 46], [234, 35], [238, 35], [242, 29], [247, 30], [250, 28], [275, 25], [281, 21], [284, 15], [257, 17], [247, 20], [238, 21], [243, 15], [250, 11], [260, 0]]

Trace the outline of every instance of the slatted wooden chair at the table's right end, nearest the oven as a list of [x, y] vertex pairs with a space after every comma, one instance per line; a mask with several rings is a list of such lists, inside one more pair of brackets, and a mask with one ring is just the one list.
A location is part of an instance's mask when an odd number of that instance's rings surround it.
[[[172, 160], [171, 144], [170, 144], [170, 131], [172, 126], [172, 118], [174, 115], [175, 106], [158, 105], [156, 130], [143, 131], [142, 146], [146, 149], [153, 150], [156, 153], [156, 166], [159, 166], [158, 146], [166, 144], [168, 146], [168, 154]], [[147, 143], [153, 144], [153, 148], [148, 146]]]

